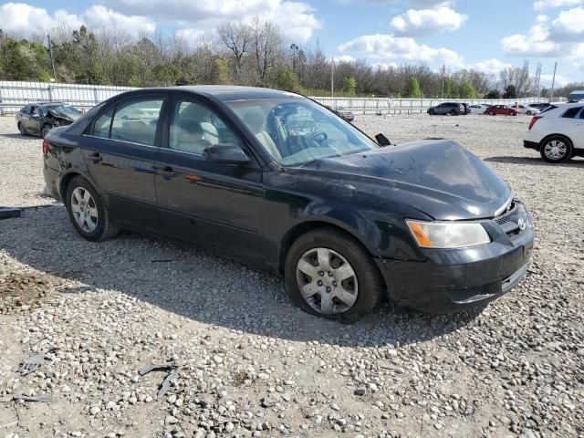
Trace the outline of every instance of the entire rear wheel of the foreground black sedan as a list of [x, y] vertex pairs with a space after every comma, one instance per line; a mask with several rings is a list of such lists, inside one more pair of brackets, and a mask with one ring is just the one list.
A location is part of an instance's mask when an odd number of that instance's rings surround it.
[[106, 240], [120, 233], [119, 226], [110, 220], [103, 198], [82, 176], [73, 178], [68, 184], [65, 201], [71, 223], [85, 239]]

